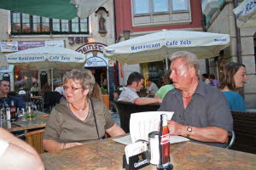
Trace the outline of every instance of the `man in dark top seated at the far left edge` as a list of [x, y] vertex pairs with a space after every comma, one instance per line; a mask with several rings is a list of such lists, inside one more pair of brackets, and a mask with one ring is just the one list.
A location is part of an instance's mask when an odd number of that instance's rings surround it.
[[1, 80], [0, 81], [0, 105], [11, 105], [11, 102], [14, 101], [15, 107], [25, 108], [25, 101], [22, 99], [9, 95], [9, 80]]

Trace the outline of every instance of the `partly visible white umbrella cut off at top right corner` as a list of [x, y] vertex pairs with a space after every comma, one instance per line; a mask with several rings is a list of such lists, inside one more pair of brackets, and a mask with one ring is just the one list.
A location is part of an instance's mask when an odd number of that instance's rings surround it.
[[238, 27], [256, 26], [256, 2], [255, 0], [244, 0], [233, 9], [236, 14], [236, 25]]

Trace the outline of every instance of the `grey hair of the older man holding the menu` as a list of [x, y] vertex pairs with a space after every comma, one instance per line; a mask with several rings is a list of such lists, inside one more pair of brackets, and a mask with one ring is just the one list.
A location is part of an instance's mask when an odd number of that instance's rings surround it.
[[169, 59], [171, 61], [175, 59], [183, 59], [187, 65], [192, 66], [195, 68], [196, 76], [199, 77], [200, 75], [200, 68], [199, 68], [199, 60], [195, 54], [192, 54], [188, 51], [177, 51], [176, 53], [172, 54]]

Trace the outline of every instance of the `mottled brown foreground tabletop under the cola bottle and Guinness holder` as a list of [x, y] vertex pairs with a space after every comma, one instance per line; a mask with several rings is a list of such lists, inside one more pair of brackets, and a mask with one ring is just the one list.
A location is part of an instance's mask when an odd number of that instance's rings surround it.
[[[125, 145], [112, 139], [83, 144], [65, 150], [55, 150], [41, 155], [47, 170], [58, 169], [122, 169]], [[253, 170], [256, 155], [218, 147], [184, 142], [171, 145], [174, 170]], [[149, 165], [143, 169], [156, 169]]]

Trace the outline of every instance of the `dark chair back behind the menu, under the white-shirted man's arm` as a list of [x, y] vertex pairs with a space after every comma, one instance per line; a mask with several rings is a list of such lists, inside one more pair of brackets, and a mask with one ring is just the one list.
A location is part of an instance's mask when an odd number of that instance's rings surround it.
[[130, 102], [114, 101], [117, 106], [120, 125], [124, 129], [125, 133], [130, 133], [130, 117], [132, 113], [143, 111], [157, 111], [160, 108], [160, 104], [149, 105], [135, 105]]

